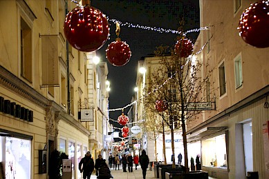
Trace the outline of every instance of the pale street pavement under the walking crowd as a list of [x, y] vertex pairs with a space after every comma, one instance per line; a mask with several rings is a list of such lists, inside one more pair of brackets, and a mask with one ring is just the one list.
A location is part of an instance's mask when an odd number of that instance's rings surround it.
[[[111, 174], [114, 177], [114, 179], [142, 179], [142, 169], [140, 165], [138, 166], [138, 169], [136, 170], [136, 167], [133, 167], [133, 172], [123, 172], [122, 165], [120, 165], [120, 170], [110, 169]], [[127, 169], [128, 171], [128, 169]], [[153, 179], [154, 178], [154, 168], [152, 168], [152, 171], [147, 169], [147, 176], [146, 179]], [[91, 175], [91, 179], [96, 179], [95, 173]]]

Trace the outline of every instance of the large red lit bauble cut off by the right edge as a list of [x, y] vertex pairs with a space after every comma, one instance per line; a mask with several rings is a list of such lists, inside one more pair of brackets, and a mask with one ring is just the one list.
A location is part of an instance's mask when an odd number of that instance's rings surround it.
[[269, 47], [269, 1], [252, 3], [241, 14], [239, 35], [256, 48]]

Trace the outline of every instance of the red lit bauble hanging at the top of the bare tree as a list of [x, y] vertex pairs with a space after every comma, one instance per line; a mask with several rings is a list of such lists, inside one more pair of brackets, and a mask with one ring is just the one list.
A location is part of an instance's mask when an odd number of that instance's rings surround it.
[[176, 42], [175, 52], [183, 58], [187, 58], [194, 51], [194, 45], [189, 39], [180, 39]]

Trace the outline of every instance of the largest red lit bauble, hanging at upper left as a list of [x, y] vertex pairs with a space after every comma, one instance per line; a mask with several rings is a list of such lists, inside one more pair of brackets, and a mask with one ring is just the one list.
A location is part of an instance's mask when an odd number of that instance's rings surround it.
[[93, 52], [106, 43], [109, 23], [100, 10], [82, 6], [74, 8], [66, 15], [64, 34], [73, 48], [82, 52]]

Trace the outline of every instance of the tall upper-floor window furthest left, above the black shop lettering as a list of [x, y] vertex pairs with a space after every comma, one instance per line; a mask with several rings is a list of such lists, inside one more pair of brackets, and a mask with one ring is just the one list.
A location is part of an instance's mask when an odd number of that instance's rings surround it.
[[32, 83], [32, 29], [21, 18], [21, 76]]

